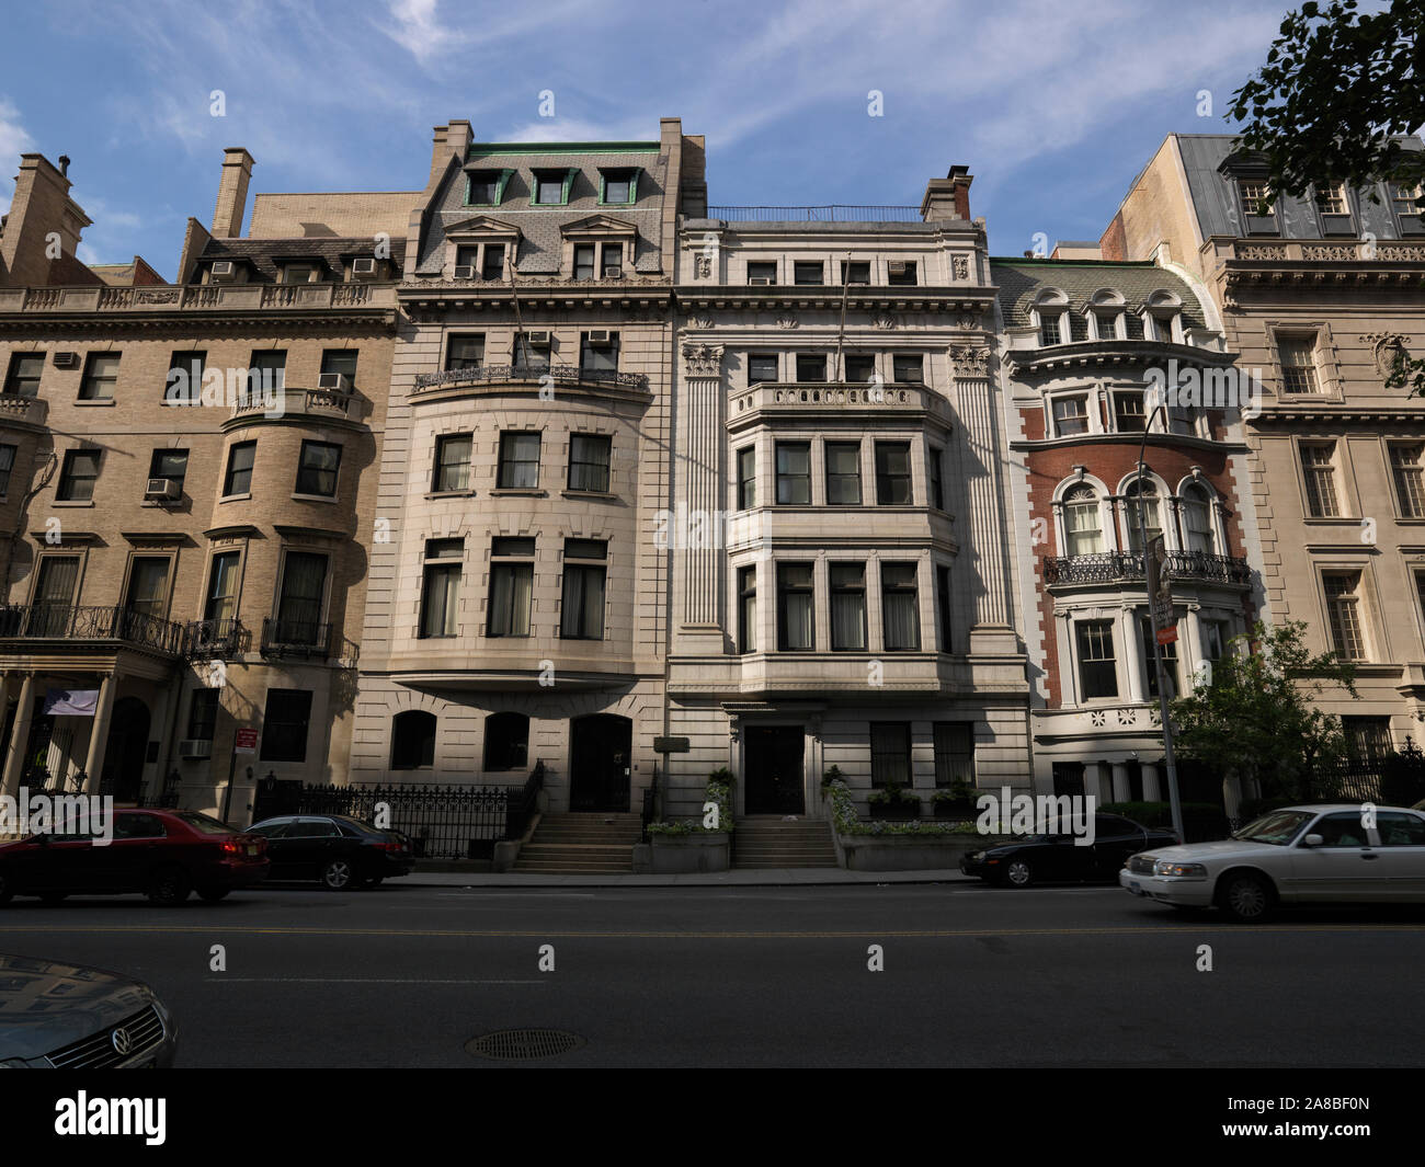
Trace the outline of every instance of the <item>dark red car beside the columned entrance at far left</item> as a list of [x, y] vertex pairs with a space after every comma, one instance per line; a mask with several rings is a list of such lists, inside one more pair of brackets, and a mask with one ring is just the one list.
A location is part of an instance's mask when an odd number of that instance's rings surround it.
[[234, 831], [197, 811], [123, 808], [114, 838], [30, 835], [0, 844], [0, 903], [37, 895], [57, 903], [68, 895], [142, 892], [154, 903], [182, 903], [197, 891], [217, 903], [234, 888], [268, 873], [266, 839]]

